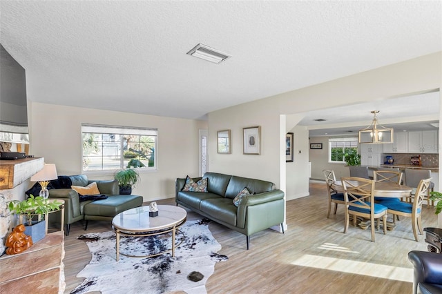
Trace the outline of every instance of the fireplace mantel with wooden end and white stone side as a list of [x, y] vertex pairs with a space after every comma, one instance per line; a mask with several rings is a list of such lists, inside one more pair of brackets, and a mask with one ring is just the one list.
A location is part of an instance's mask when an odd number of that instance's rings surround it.
[[12, 189], [35, 175], [44, 166], [44, 157], [0, 160], [0, 190]]

